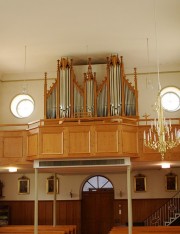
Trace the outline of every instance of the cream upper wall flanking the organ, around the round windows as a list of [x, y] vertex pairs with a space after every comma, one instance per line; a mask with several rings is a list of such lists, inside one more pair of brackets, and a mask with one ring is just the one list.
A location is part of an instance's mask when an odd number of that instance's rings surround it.
[[[103, 67], [103, 68], [102, 68]], [[84, 70], [83, 70], [84, 69]], [[83, 82], [83, 72], [87, 71], [87, 66], [82, 66], [81, 70], [78, 70], [75, 67], [76, 76], [79, 80], [79, 83]], [[99, 65], [93, 67], [93, 72], [96, 72], [97, 79], [99, 79], [99, 83], [104, 79], [105, 76], [105, 65]], [[131, 70], [131, 73], [133, 71]], [[176, 86], [180, 88], [180, 79], [179, 72], [167, 72], [160, 74], [161, 86], [166, 87], [168, 85]], [[0, 121], [1, 123], [29, 123], [34, 120], [39, 120], [44, 117], [44, 74], [28, 74], [26, 75], [26, 80], [21, 75], [11, 74], [6, 75], [6, 79], [8, 82], [2, 82], [1, 84], [1, 93], [0, 100], [1, 104], [1, 114]], [[55, 78], [56, 72], [52, 72], [48, 74], [48, 78]], [[28, 81], [31, 78], [31, 81]], [[127, 75], [127, 79], [132, 81], [133, 83], [133, 75]], [[22, 81], [21, 81], [22, 80]], [[158, 79], [157, 74], [145, 74], [138, 75], [138, 96], [139, 96], [139, 116], [142, 116], [147, 113], [150, 115], [150, 118], [157, 117], [156, 112], [154, 110], [154, 103], [156, 102], [157, 93], [158, 93]], [[48, 84], [51, 84], [53, 80], [49, 80]], [[31, 95], [35, 101], [35, 111], [34, 113], [25, 119], [19, 120], [14, 117], [10, 111], [10, 103], [12, 99], [19, 93], [22, 92], [23, 87], [27, 87], [27, 92]], [[165, 117], [167, 118], [175, 118], [180, 116], [180, 110], [175, 113], [165, 112]]]

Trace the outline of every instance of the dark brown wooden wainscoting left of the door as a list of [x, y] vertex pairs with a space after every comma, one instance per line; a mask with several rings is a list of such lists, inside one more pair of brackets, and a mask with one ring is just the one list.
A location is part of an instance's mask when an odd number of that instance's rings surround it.
[[[34, 201], [1, 201], [0, 203], [10, 208], [10, 225], [34, 224]], [[39, 225], [52, 225], [53, 201], [39, 201], [38, 213]], [[80, 228], [80, 222], [81, 201], [57, 201], [57, 225], [77, 224]]]

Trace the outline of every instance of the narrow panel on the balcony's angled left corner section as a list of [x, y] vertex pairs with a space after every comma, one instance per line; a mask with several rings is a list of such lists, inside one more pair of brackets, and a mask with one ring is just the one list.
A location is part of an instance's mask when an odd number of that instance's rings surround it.
[[38, 155], [38, 134], [29, 135], [27, 137], [27, 155], [36, 156]]

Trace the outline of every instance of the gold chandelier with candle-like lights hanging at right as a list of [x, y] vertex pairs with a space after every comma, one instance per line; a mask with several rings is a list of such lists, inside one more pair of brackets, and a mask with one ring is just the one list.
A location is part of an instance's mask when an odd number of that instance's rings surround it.
[[144, 145], [153, 150], [158, 150], [161, 159], [164, 160], [167, 150], [180, 144], [180, 129], [173, 128], [171, 120], [167, 121], [164, 118], [160, 92], [155, 106], [158, 117], [151, 122], [148, 132], [144, 131]]

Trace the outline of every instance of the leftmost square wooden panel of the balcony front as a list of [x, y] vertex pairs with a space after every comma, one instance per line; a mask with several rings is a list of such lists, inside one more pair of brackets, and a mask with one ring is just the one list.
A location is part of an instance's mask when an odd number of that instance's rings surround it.
[[4, 137], [4, 157], [23, 156], [23, 137]]

